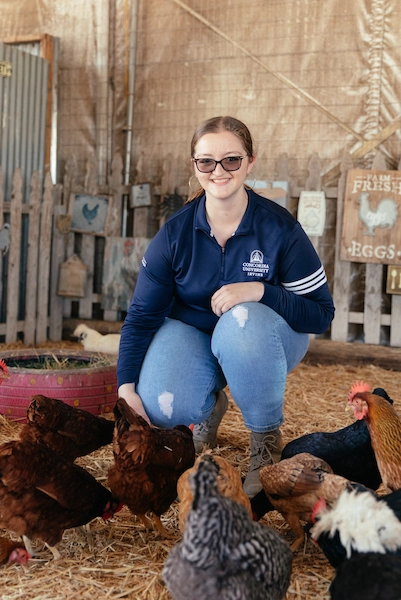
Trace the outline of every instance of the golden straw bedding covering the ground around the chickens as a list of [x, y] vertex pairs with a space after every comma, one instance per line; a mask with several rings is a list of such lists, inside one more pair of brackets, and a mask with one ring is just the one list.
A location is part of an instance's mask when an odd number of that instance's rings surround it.
[[[333, 431], [351, 423], [352, 416], [345, 412], [345, 406], [350, 385], [356, 379], [368, 381], [372, 388], [384, 387], [398, 408], [400, 372], [372, 365], [312, 366], [301, 363], [288, 378], [286, 420], [282, 427], [284, 441], [312, 431]], [[16, 437], [19, 427], [0, 416], [0, 443]], [[231, 398], [219, 429], [219, 442], [215, 452], [245, 475], [249, 461], [248, 432]], [[105, 483], [112, 460], [111, 447], [106, 447], [77, 462]], [[50, 551], [36, 543], [34, 548], [38, 554], [29, 561], [26, 573], [16, 565], [0, 567], [1, 598], [170, 600], [160, 573], [169, 549], [181, 539], [177, 502], [162, 516], [162, 521], [173, 532], [171, 539], [161, 540], [153, 532], [145, 534], [142, 523], [124, 507], [107, 523], [102, 519], [92, 521], [89, 533], [81, 529], [66, 531], [59, 545], [62, 554], [59, 561], [54, 561]], [[293, 534], [278, 513], [269, 513], [261, 522], [279, 530], [289, 543], [293, 541]], [[1, 530], [0, 534], [13, 537]], [[328, 599], [332, 577], [333, 569], [323, 554], [307, 541], [294, 556], [286, 599]]]

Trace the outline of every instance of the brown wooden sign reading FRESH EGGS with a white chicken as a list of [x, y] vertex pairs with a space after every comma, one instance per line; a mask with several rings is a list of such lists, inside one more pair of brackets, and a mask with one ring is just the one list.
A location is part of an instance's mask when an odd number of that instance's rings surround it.
[[340, 258], [401, 265], [401, 171], [348, 171]]

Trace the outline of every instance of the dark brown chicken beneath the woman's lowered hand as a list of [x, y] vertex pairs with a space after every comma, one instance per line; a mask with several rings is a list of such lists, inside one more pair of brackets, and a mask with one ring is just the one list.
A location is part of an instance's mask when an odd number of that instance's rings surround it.
[[178, 478], [194, 464], [192, 431], [185, 425], [151, 427], [122, 398], [117, 400], [114, 413], [115, 462], [108, 473], [108, 485], [146, 529], [150, 527], [146, 513], [152, 512], [156, 529], [166, 537], [160, 515], [177, 497]]

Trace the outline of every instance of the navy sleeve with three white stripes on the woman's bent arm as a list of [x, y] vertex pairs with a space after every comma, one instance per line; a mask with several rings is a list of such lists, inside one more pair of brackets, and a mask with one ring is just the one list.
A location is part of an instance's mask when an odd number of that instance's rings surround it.
[[282, 253], [279, 283], [264, 282], [261, 299], [300, 333], [324, 333], [334, 317], [334, 304], [324, 267], [299, 225]]

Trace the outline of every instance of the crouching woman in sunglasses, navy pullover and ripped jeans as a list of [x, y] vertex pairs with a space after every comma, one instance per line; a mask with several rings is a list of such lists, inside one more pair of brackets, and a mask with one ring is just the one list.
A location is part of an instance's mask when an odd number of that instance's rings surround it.
[[159, 427], [195, 423], [217, 443], [228, 385], [250, 430], [248, 496], [280, 457], [287, 374], [334, 315], [321, 262], [284, 208], [245, 187], [256, 156], [233, 117], [199, 125], [200, 191], [158, 231], [121, 331], [119, 395]]

